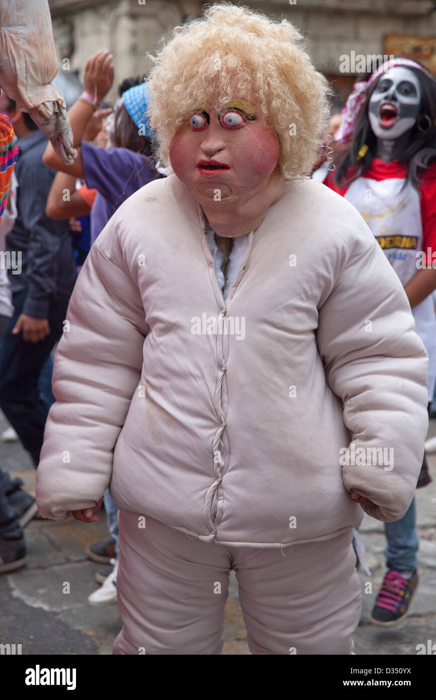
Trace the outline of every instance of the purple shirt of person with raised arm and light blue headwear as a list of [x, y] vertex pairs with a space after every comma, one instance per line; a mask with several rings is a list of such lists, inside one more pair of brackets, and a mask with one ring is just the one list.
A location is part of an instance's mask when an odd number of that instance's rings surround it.
[[115, 211], [136, 190], [164, 177], [155, 162], [128, 148], [99, 148], [87, 141], [80, 144], [86, 184], [97, 191], [91, 209], [91, 245]]

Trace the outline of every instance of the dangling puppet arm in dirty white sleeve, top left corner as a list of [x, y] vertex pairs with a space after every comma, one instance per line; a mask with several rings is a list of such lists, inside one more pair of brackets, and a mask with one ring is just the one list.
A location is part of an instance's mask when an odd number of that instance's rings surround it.
[[57, 59], [48, 0], [1, 0], [0, 19], [0, 85], [71, 164], [77, 152], [66, 105], [51, 84]]

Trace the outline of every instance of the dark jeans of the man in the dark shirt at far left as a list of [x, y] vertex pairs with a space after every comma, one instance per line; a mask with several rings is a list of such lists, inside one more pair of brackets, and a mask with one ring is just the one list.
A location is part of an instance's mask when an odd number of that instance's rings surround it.
[[39, 342], [23, 340], [12, 329], [22, 312], [26, 290], [13, 295], [15, 311], [0, 343], [0, 408], [29, 452], [34, 466], [39, 463], [48, 402], [41, 398], [38, 381], [53, 346], [62, 335], [62, 321], [69, 299], [50, 300], [49, 334]]

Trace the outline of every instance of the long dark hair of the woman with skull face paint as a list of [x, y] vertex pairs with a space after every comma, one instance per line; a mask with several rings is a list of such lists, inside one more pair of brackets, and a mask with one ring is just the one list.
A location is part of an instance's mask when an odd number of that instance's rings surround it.
[[[424, 172], [436, 160], [436, 80], [429, 78], [426, 73], [419, 69], [410, 66], [407, 68], [414, 72], [421, 85], [421, 105], [416, 123], [410, 130], [409, 144], [405, 147], [401, 161], [407, 165], [405, 185], [411, 182], [415, 188], [418, 188]], [[380, 73], [380, 76], [374, 80], [370, 87], [367, 99], [356, 120], [350, 148], [341, 153], [335, 160], [336, 168], [333, 179], [339, 187], [346, 187], [360, 177], [370, 167], [375, 157], [377, 137], [370, 125], [368, 103], [380, 78], [383, 77], [384, 73]], [[430, 118], [431, 125], [428, 131], [422, 132], [418, 125], [426, 127], [428, 125], [426, 117]], [[367, 146], [367, 152], [363, 158], [359, 158], [359, 152], [363, 146]]]

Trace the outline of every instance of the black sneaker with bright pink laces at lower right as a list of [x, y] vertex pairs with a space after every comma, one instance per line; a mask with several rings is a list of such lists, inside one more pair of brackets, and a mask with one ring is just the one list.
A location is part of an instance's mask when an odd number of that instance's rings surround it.
[[399, 624], [409, 612], [418, 581], [416, 569], [409, 579], [403, 578], [399, 571], [388, 571], [370, 615], [370, 622], [381, 627], [395, 627]]

